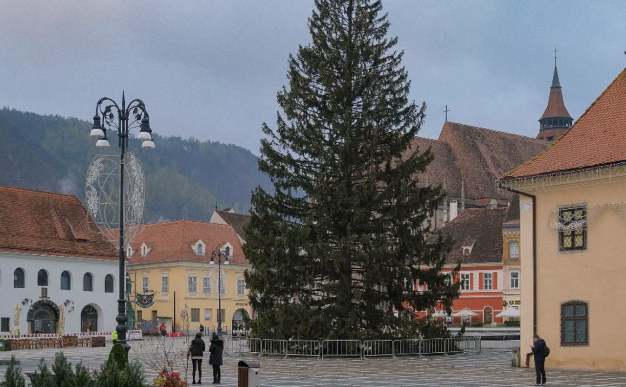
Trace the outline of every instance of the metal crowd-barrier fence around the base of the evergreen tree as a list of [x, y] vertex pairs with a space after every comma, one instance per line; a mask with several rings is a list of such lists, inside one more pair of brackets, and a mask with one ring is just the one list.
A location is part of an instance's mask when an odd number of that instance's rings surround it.
[[481, 352], [481, 338], [446, 339], [381, 339], [381, 340], [276, 340], [255, 338], [225, 338], [224, 352], [228, 355], [258, 354], [259, 356], [303, 356], [311, 358], [373, 358], [428, 354]]

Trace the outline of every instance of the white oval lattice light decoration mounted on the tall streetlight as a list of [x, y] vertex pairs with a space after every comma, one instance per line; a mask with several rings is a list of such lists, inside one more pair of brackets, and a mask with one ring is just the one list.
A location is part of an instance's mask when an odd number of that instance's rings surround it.
[[[145, 204], [143, 167], [133, 153], [125, 154], [124, 226], [125, 241], [130, 244], [139, 232]], [[118, 229], [120, 208], [120, 157], [98, 155], [87, 171], [85, 183], [87, 210], [100, 229]], [[113, 240], [119, 248], [119, 238]]]

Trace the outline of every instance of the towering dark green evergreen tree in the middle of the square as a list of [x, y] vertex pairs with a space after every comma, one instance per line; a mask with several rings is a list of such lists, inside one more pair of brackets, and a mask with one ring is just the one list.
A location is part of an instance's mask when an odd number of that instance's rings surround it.
[[289, 57], [278, 93], [284, 115], [263, 125], [259, 166], [274, 193], [255, 191], [245, 246], [259, 336], [409, 334], [405, 309], [458, 296], [441, 274], [449, 241], [429, 238], [443, 192], [416, 179], [432, 159], [411, 148], [426, 106], [408, 101], [381, 11], [381, 1], [316, 0], [312, 44]]

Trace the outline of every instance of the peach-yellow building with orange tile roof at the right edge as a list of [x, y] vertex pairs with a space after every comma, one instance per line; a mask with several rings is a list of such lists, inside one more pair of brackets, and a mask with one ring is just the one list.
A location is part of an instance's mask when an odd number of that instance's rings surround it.
[[626, 70], [500, 185], [522, 195], [522, 351], [537, 333], [547, 368], [625, 371]]

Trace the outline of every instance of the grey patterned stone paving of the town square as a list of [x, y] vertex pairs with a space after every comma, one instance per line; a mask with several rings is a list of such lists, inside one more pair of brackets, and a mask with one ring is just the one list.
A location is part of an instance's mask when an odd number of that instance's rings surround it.
[[[133, 341], [130, 358], [144, 365], [146, 381], [156, 376], [151, 368], [155, 357], [162, 356], [158, 339]], [[66, 348], [63, 352], [69, 361], [90, 368], [99, 367], [108, 356], [106, 348]], [[176, 369], [185, 374], [185, 340], [167, 339], [165, 346], [174, 355]], [[21, 349], [0, 353], [0, 359], [15, 355], [23, 371], [34, 371], [39, 359], [51, 364], [54, 353], [59, 349]], [[203, 364], [203, 384], [211, 384], [212, 371], [208, 353]], [[237, 361], [241, 356], [224, 356], [222, 385], [237, 386]], [[458, 354], [453, 356], [406, 357], [399, 359], [302, 359], [264, 356], [261, 362], [261, 386], [529, 386], [533, 383], [533, 369], [511, 368], [510, 350], [488, 349], [480, 354]], [[550, 386], [626, 386], [626, 373], [551, 371], [548, 358], [548, 384]], [[6, 366], [0, 366], [4, 377]], [[191, 379], [191, 364], [188, 378]]]

